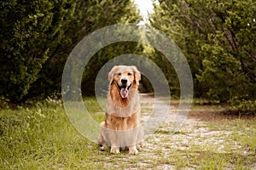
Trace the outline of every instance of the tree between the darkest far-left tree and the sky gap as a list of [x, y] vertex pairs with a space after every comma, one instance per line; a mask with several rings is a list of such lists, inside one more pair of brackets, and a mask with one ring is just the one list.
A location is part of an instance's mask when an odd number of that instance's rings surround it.
[[[129, 0], [77, 1], [73, 18], [68, 26], [65, 26], [65, 39], [53, 50], [40, 72], [38, 81], [32, 86], [30, 94], [49, 95], [55, 91], [61, 91], [61, 77], [66, 59], [74, 46], [86, 35], [104, 26], [126, 22], [137, 23], [140, 19], [137, 8]], [[86, 91], [86, 93], [83, 93], [84, 95], [93, 94], [90, 92], [94, 90], [93, 82], [95, 81], [96, 72], [101, 68], [102, 62], [111, 59], [110, 55], [113, 55], [114, 51], [117, 50], [122, 49], [114, 47], [111, 50], [108, 49], [110, 51], [108, 53], [106, 51], [104, 53], [99, 52], [93, 57], [94, 60], [86, 68], [90, 69], [91, 74], [86, 74], [86, 77], [84, 76], [86, 81], [82, 82], [83, 92]]]

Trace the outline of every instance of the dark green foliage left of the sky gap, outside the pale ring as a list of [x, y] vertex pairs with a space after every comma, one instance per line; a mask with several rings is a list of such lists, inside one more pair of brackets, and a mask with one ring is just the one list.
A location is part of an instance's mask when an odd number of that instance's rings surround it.
[[129, 0], [4, 0], [0, 4], [0, 95], [13, 103], [60, 91], [68, 54], [91, 31], [140, 19]]

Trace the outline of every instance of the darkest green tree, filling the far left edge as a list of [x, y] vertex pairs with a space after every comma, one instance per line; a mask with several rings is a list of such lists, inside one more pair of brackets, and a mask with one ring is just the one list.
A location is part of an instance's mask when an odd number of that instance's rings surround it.
[[74, 1], [1, 1], [0, 95], [20, 102], [38, 78]]

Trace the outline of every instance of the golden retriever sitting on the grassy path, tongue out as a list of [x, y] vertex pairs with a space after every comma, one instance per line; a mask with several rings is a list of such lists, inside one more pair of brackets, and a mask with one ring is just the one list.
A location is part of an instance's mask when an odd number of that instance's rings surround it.
[[109, 89], [105, 121], [101, 123], [98, 143], [101, 150], [111, 147], [118, 154], [121, 148], [137, 155], [143, 146], [143, 128], [140, 125], [140, 96], [138, 85], [141, 74], [136, 66], [114, 66], [108, 73]]

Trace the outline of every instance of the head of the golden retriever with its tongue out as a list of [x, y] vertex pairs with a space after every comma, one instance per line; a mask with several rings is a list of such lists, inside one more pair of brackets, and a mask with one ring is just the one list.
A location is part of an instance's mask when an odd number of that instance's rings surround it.
[[136, 66], [119, 65], [114, 66], [108, 73], [110, 85], [114, 84], [119, 88], [122, 98], [127, 98], [131, 88], [137, 88], [141, 80], [141, 73]]

